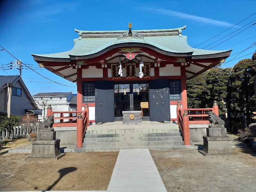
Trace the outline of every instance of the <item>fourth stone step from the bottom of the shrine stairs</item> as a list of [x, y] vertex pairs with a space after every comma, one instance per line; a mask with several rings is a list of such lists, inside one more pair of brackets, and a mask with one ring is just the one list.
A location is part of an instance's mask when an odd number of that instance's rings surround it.
[[167, 132], [167, 133], [99, 133], [99, 134], [85, 134], [85, 138], [97, 138], [97, 137], [164, 137], [164, 136], [180, 136], [180, 132]]

